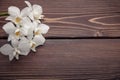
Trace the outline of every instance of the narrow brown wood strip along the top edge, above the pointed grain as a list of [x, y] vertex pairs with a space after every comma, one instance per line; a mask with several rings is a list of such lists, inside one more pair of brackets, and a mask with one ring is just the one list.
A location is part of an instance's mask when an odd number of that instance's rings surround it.
[[[40, 4], [45, 13], [111, 13], [120, 12], [119, 0], [29, 0]], [[0, 11], [7, 11], [8, 6], [25, 7], [23, 0], [0, 0]]]

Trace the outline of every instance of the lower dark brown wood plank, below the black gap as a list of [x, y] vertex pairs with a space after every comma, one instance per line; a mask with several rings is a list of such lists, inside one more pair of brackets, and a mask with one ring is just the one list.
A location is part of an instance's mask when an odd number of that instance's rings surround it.
[[120, 39], [49, 39], [37, 53], [12, 62], [0, 54], [0, 78], [119, 80]]

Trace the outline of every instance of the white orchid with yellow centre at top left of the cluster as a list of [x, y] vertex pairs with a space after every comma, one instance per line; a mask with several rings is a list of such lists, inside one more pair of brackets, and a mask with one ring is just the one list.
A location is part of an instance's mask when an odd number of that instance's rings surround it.
[[14, 22], [15, 24], [19, 25], [19, 24], [21, 24], [24, 17], [26, 17], [28, 15], [28, 13], [30, 13], [30, 9], [28, 7], [25, 7], [24, 9], [22, 9], [20, 11], [20, 9], [18, 7], [10, 6], [8, 8], [8, 14], [10, 16], [8, 16], [6, 18], [6, 20], [10, 20], [10, 21]]

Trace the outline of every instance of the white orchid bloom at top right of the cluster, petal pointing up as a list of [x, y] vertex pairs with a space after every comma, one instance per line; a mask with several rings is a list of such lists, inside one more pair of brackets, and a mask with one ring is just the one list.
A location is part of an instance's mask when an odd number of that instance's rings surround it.
[[37, 4], [31, 5], [29, 1], [25, 1], [25, 3], [29, 7], [29, 10], [31, 10], [31, 13], [29, 14], [30, 19], [40, 23], [39, 19], [43, 19], [44, 17], [44, 15], [42, 15], [42, 7]]

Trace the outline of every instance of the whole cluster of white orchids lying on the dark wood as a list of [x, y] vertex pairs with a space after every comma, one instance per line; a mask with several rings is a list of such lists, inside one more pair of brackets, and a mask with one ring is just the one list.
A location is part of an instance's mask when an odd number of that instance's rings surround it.
[[0, 48], [3, 55], [8, 55], [9, 60], [16, 58], [19, 55], [28, 55], [30, 50], [36, 52], [36, 47], [45, 43], [43, 37], [49, 30], [49, 26], [42, 24], [40, 19], [43, 19], [43, 10], [40, 5], [31, 5], [29, 1], [25, 1], [28, 7], [20, 11], [16, 6], [8, 8], [9, 16], [6, 20], [11, 22], [6, 23], [2, 28], [9, 35], [8, 41], [10, 44], [5, 44]]

